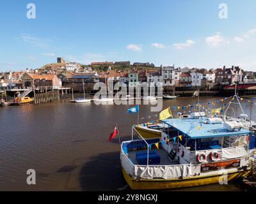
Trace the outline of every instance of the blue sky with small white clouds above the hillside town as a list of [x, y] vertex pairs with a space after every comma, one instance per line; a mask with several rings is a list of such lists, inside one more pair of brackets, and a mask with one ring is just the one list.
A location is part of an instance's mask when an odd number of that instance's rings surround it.
[[[35, 19], [27, 18], [29, 3]], [[256, 71], [256, 1], [0, 1], [0, 71], [57, 57]]]

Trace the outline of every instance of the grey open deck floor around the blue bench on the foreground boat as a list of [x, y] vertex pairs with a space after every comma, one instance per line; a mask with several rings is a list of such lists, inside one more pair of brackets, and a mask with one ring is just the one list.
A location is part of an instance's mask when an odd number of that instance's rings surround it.
[[[156, 150], [157, 154], [159, 154], [159, 156], [161, 157], [160, 160], [160, 164], [153, 164], [153, 165], [174, 165], [177, 164], [177, 161], [175, 160], [171, 160], [170, 157], [168, 156], [168, 153], [166, 152], [166, 150], [164, 150], [163, 148], [159, 148], [157, 149], [152, 149], [152, 150]], [[136, 151], [128, 151], [128, 157], [129, 159], [131, 159], [132, 163], [135, 165], [139, 165], [137, 159], [136, 159], [136, 152], [145, 152], [147, 150], [136, 150]]]

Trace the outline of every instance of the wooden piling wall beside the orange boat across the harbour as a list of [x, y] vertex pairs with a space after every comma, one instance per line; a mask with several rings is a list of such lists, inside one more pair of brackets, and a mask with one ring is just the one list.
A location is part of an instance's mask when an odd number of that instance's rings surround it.
[[59, 91], [49, 91], [41, 94], [34, 94], [34, 103], [35, 105], [40, 105], [43, 103], [60, 101], [60, 92]]

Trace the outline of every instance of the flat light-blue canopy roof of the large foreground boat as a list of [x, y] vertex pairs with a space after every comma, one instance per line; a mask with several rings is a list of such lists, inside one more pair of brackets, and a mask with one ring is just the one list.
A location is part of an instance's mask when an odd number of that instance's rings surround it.
[[[161, 120], [164, 124], [171, 126], [178, 131], [180, 135], [186, 135], [191, 139], [215, 138], [221, 136], [239, 136], [248, 135], [251, 132], [241, 128], [236, 131], [229, 131], [224, 127], [224, 122], [218, 124], [206, 124], [206, 117], [202, 118], [182, 118]], [[200, 128], [198, 128], [198, 126]]]

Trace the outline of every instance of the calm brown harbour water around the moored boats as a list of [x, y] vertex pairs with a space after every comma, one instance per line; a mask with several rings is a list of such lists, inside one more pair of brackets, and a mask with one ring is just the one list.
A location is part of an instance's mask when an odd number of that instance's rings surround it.
[[[196, 98], [165, 100], [163, 108], [193, 103]], [[243, 106], [249, 114], [249, 104], [244, 102]], [[65, 101], [0, 107], [0, 191], [129, 190], [121, 173], [118, 140], [107, 142], [116, 122], [122, 140], [131, 138], [131, 126], [137, 115], [127, 113], [129, 107]], [[239, 111], [237, 108], [236, 113]], [[141, 117], [151, 114], [149, 105], [141, 106]], [[253, 119], [256, 119], [255, 107]], [[26, 184], [28, 169], [36, 170], [35, 186]], [[182, 190], [239, 191], [240, 188], [232, 183]]]

